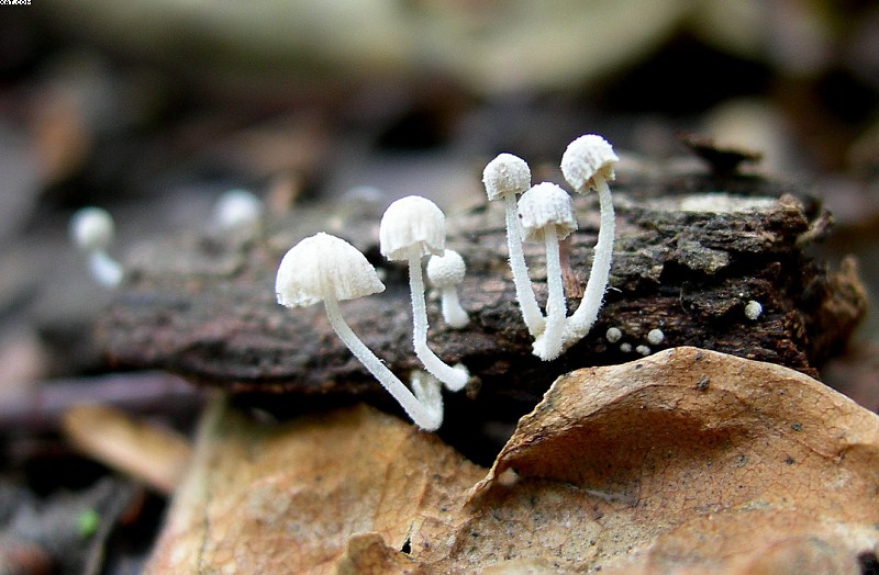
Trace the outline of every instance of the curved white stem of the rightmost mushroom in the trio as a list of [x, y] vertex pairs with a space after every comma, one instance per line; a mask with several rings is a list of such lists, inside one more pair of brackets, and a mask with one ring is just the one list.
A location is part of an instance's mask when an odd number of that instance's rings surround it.
[[598, 311], [601, 308], [611, 272], [614, 237], [613, 200], [604, 178], [596, 178], [596, 189], [601, 211], [596, 255], [592, 259], [592, 269], [589, 271], [589, 281], [586, 282], [586, 291], [580, 302], [580, 307], [565, 323], [566, 345], [579, 341], [592, 328], [592, 324], [598, 318]]

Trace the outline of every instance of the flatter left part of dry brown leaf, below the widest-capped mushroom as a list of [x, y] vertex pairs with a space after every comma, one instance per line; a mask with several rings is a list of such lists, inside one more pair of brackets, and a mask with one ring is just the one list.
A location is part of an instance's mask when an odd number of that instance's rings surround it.
[[216, 405], [194, 459], [148, 573], [332, 573], [352, 535], [402, 549], [485, 474], [366, 406], [260, 425]]

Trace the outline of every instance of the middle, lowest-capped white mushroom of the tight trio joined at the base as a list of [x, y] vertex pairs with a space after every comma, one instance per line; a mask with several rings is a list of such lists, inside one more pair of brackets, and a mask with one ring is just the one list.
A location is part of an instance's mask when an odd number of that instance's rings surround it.
[[534, 353], [544, 361], [554, 360], [561, 353], [568, 311], [558, 243], [577, 229], [570, 195], [554, 183], [534, 185], [519, 200], [519, 222], [525, 239], [542, 240], [546, 250], [546, 327], [534, 342]]

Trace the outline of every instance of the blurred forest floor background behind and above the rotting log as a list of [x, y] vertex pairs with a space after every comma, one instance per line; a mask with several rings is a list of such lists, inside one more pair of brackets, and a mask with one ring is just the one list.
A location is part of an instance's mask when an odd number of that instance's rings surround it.
[[[481, 198], [499, 151], [554, 166], [593, 132], [675, 162], [698, 134], [821, 199], [836, 228], [820, 256], [857, 255], [879, 290], [875, 1], [32, 4], [0, 5], [0, 413], [4, 474], [31, 484], [63, 449], [10, 429], [16, 402], [105, 370], [88, 329], [111, 294], [67, 233], [84, 205], [113, 214], [124, 259], [204, 228], [230, 189], [270, 210], [410, 193], [447, 207]], [[870, 314], [825, 371], [872, 409], [878, 352]]]

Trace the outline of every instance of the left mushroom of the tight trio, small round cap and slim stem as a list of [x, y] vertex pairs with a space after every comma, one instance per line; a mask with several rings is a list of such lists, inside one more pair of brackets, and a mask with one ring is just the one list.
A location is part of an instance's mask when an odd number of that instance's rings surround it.
[[531, 188], [531, 169], [522, 158], [512, 154], [501, 154], [486, 166], [482, 171], [482, 183], [489, 201], [503, 200], [507, 208], [507, 249], [510, 256], [510, 269], [513, 272], [515, 297], [522, 309], [522, 319], [532, 337], [544, 330], [546, 320], [537, 305], [534, 290], [531, 288], [525, 253], [522, 251], [522, 237], [516, 213], [516, 195]]

